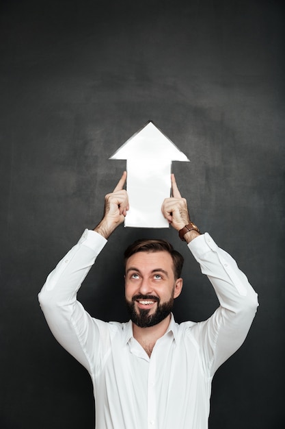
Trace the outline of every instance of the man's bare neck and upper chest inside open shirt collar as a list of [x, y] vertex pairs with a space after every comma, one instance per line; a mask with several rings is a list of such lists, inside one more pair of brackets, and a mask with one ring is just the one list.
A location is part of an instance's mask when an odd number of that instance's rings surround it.
[[168, 315], [160, 323], [149, 328], [140, 328], [133, 323], [133, 336], [141, 347], [144, 348], [149, 357], [157, 340], [167, 331], [170, 319], [171, 315]]

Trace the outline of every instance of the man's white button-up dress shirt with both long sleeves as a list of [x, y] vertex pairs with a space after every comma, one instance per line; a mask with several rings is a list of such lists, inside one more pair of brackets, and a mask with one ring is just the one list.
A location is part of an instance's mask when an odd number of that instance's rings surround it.
[[77, 291], [107, 241], [85, 230], [49, 274], [39, 294], [53, 335], [87, 369], [94, 386], [96, 429], [206, 429], [216, 369], [243, 343], [257, 295], [232, 257], [209, 234], [188, 247], [208, 275], [220, 306], [206, 321], [176, 323], [150, 358], [132, 322], [104, 322], [77, 301]]

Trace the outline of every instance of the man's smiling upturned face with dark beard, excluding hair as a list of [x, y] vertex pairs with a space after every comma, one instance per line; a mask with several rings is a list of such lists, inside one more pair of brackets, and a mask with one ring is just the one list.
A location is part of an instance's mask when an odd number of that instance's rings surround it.
[[137, 326], [147, 328], [165, 319], [181, 289], [168, 252], [137, 252], [126, 261], [126, 304]]

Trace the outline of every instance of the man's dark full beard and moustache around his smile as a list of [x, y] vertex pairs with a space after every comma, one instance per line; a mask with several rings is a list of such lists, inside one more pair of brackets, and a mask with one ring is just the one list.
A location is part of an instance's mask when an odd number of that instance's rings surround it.
[[[156, 301], [157, 302], [157, 310], [155, 310], [152, 315], [149, 315], [150, 308], [138, 308], [138, 312], [135, 309], [135, 301], [137, 299], [146, 299], [150, 301]], [[157, 323], [160, 323], [163, 321], [171, 312], [174, 304], [174, 291], [172, 293], [172, 297], [169, 299], [169, 301], [160, 304], [159, 298], [153, 296], [153, 295], [135, 295], [132, 298], [132, 301], [126, 300], [126, 307], [128, 308], [128, 312], [130, 313], [131, 320], [135, 325], [139, 326], [139, 328], [150, 328], [150, 326], [157, 325]]]

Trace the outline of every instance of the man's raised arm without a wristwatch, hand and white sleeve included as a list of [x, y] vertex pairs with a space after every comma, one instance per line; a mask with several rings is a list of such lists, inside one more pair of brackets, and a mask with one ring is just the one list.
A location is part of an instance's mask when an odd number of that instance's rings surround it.
[[[124, 191], [126, 172], [123, 173], [113, 193], [105, 197], [103, 219], [94, 230], [85, 230], [79, 242], [59, 261], [51, 273], [38, 298], [44, 317], [55, 339], [74, 358], [87, 368], [90, 366], [91, 354], [87, 350], [90, 336], [98, 343], [103, 322], [97, 324], [77, 301], [79, 290], [96, 257], [107, 243], [110, 234], [124, 221], [128, 210], [128, 195]], [[107, 336], [107, 332], [106, 332]], [[93, 342], [94, 343], [94, 342]], [[98, 352], [103, 353], [98, 349]], [[100, 360], [100, 358], [99, 358]]]

